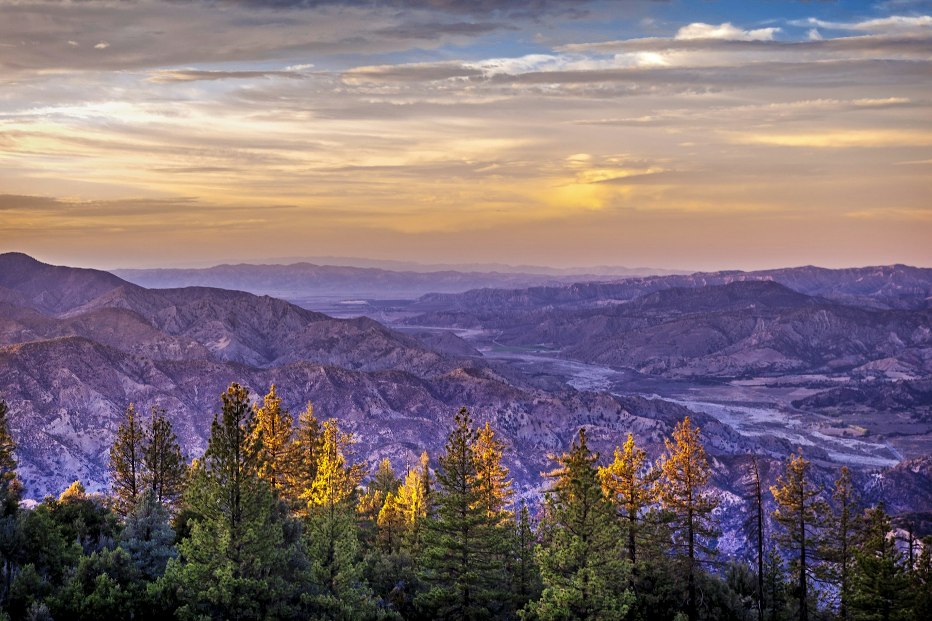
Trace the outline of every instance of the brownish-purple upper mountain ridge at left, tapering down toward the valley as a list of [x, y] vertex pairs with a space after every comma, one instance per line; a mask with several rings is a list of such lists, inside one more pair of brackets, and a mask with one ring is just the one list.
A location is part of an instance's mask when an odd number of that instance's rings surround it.
[[[371, 319], [336, 319], [245, 291], [149, 290], [106, 272], [46, 265], [17, 253], [0, 255], [0, 274], [11, 291], [6, 304], [0, 298], [0, 344], [80, 335], [153, 358], [257, 367], [309, 360], [418, 374], [471, 363]], [[17, 304], [53, 317], [30, 315]]]

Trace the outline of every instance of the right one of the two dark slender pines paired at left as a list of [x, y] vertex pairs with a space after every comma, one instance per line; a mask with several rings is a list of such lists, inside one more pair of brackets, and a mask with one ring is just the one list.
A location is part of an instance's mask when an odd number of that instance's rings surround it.
[[188, 470], [178, 437], [165, 410], [152, 407], [152, 418], [144, 430], [143, 482], [166, 508], [177, 505], [185, 488]]

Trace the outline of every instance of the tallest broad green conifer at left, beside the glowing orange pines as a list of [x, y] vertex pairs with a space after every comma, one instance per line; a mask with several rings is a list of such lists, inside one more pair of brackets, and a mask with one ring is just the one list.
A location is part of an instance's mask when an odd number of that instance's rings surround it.
[[184, 562], [171, 561], [166, 575], [185, 601], [181, 619], [260, 619], [288, 597], [284, 531], [259, 476], [262, 444], [249, 391], [234, 383], [222, 400], [185, 493], [199, 520], [181, 543]]

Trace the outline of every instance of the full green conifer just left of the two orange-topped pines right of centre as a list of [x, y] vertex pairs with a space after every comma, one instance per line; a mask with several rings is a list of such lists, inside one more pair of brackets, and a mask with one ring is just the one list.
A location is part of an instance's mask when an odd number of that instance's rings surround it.
[[602, 493], [585, 429], [559, 467], [544, 496], [536, 560], [543, 591], [528, 613], [543, 621], [623, 619], [634, 601], [627, 587], [628, 562], [614, 507]]

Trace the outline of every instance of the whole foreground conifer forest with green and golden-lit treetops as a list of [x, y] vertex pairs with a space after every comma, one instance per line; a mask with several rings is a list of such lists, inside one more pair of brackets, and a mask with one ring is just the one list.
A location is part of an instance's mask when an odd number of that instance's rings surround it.
[[26, 506], [0, 401], [0, 618], [932, 618], [932, 539], [895, 536], [847, 468], [816, 486], [802, 452], [770, 489], [751, 460], [749, 552], [718, 553], [689, 418], [656, 463], [630, 434], [598, 455], [581, 428], [545, 491], [518, 497], [504, 442], [465, 408], [442, 453], [367, 471], [336, 419], [295, 416], [275, 385], [253, 403], [234, 383], [217, 405], [190, 459], [166, 412], [129, 404], [109, 493], [75, 480]]

